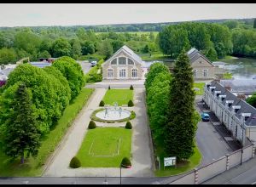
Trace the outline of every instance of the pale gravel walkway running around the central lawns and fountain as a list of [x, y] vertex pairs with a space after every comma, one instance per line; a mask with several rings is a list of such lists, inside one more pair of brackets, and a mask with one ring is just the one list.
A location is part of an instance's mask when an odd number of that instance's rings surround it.
[[[136, 88], [134, 104], [131, 110], [135, 111], [137, 117], [132, 120], [133, 133], [131, 153], [132, 167], [122, 169], [123, 177], [152, 177], [152, 159], [150, 141], [148, 136], [148, 122], [144, 104], [144, 88]], [[73, 124], [73, 129], [67, 136], [67, 140], [59, 151], [55, 151], [55, 157], [44, 173], [44, 177], [119, 177], [119, 168], [97, 167], [77, 168], [68, 167], [69, 161], [78, 152], [80, 145], [87, 132], [90, 114], [98, 108], [102, 97], [106, 93], [105, 88], [97, 88], [90, 99], [88, 107], [81, 111], [81, 115]], [[96, 122], [97, 124], [97, 122]]]

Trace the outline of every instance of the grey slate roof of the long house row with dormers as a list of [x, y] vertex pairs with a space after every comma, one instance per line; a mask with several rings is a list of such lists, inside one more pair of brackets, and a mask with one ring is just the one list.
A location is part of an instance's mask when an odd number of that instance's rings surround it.
[[[256, 109], [252, 105], [249, 105], [243, 99], [237, 98], [235, 94], [231, 93], [228, 89], [224, 88], [223, 85], [216, 81], [210, 82], [210, 87], [216, 87], [214, 91], [221, 91], [221, 94], [226, 95], [226, 98], [222, 101], [223, 105], [225, 105], [226, 100], [234, 100], [233, 104], [228, 108], [229, 111], [232, 111], [232, 106], [234, 105], [241, 106], [241, 108], [236, 111], [236, 117], [238, 119], [241, 118], [241, 113], [251, 113], [251, 116], [247, 119], [245, 124], [247, 126], [256, 126]], [[212, 91], [212, 95], [214, 94], [214, 91]]]

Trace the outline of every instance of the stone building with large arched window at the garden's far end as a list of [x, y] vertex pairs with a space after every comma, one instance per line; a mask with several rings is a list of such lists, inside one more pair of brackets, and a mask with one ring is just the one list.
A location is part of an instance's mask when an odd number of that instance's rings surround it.
[[143, 79], [143, 60], [123, 46], [102, 64], [103, 80]]

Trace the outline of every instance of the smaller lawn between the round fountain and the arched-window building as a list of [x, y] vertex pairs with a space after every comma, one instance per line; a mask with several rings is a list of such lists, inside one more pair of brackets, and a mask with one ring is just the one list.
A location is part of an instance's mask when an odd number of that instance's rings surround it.
[[127, 105], [129, 100], [133, 100], [133, 90], [130, 89], [108, 89], [103, 101], [105, 105]]

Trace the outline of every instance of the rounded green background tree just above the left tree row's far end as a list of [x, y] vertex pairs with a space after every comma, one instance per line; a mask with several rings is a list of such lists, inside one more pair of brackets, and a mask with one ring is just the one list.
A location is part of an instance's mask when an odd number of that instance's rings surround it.
[[52, 45], [53, 57], [70, 56], [71, 45], [67, 39], [60, 37]]

